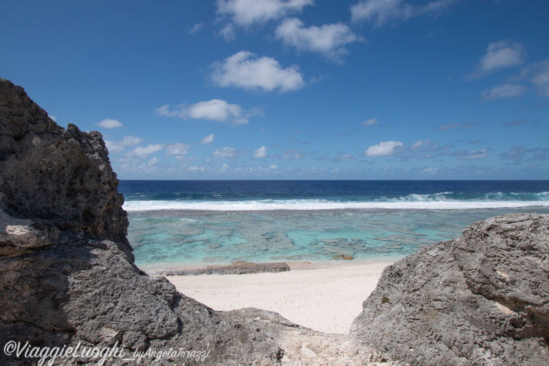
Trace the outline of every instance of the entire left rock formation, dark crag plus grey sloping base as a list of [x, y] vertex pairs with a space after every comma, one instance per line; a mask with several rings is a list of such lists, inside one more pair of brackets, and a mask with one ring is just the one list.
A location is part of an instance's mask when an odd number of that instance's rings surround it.
[[0, 365], [38, 364], [6, 354], [18, 341], [125, 356], [54, 365], [400, 365], [350, 335], [253, 308], [217, 312], [149, 277], [133, 263], [117, 185], [100, 133], [61, 128], [0, 79]]

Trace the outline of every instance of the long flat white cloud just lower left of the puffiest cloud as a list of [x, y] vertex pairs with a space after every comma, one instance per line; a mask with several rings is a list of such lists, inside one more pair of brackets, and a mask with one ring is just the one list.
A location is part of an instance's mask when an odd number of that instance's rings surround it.
[[230, 104], [225, 100], [213, 99], [196, 104], [179, 104], [170, 109], [170, 104], [156, 108], [156, 113], [161, 116], [205, 119], [215, 122], [231, 122], [233, 126], [247, 124], [250, 117], [261, 113], [259, 109], [246, 111], [238, 104]]

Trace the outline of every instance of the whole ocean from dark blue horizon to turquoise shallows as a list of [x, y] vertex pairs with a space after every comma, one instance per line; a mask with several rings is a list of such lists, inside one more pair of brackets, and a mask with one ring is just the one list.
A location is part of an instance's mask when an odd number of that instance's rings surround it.
[[397, 260], [508, 213], [549, 214], [549, 181], [121, 181], [144, 271]]

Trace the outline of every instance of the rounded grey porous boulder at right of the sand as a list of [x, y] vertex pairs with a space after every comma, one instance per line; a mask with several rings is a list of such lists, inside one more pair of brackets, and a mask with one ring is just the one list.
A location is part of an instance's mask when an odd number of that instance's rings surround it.
[[476, 222], [385, 268], [351, 332], [412, 365], [549, 365], [549, 216]]

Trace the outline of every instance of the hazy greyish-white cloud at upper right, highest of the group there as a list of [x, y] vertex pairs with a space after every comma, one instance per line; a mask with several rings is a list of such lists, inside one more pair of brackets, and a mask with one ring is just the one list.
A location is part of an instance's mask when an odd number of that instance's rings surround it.
[[493, 70], [503, 69], [522, 64], [524, 60], [522, 45], [509, 40], [493, 42], [488, 45], [486, 54], [479, 60], [480, 71], [489, 73]]

